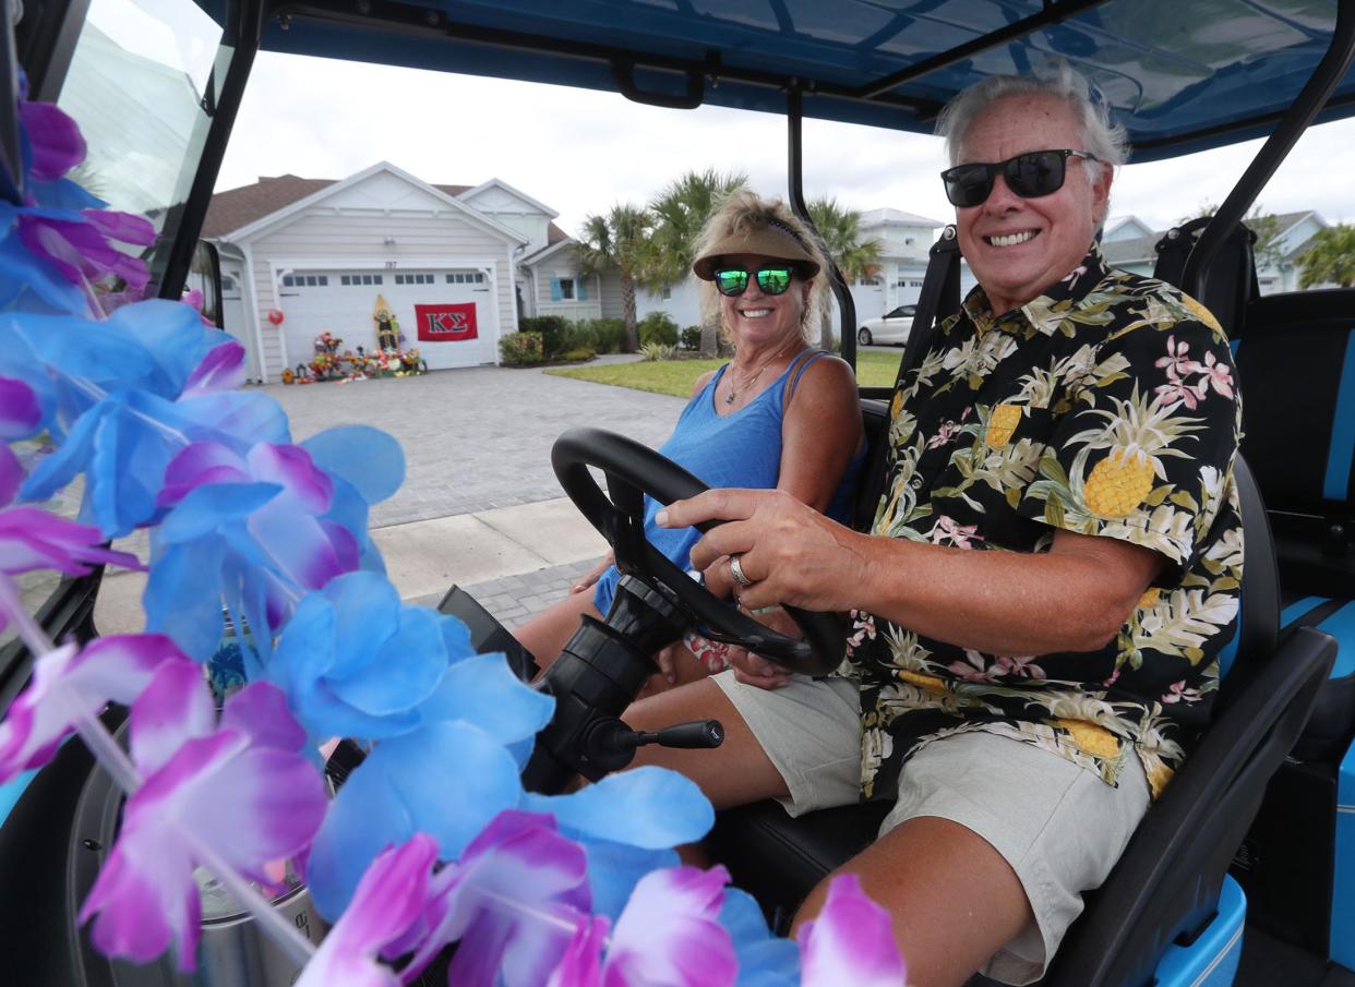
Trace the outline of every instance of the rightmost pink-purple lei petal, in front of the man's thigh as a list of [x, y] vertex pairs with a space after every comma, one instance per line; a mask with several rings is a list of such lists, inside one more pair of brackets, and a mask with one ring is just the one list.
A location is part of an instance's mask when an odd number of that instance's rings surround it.
[[828, 883], [828, 900], [799, 930], [802, 987], [898, 987], [908, 968], [894, 941], [889, 911], [844, 872]]

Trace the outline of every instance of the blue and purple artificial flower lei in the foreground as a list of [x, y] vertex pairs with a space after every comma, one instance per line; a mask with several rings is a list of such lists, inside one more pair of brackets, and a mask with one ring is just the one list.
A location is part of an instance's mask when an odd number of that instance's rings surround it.
[[[0, 784], [77, 732], [126, 792], [80, 911], [98, 949], [172, 948], [192, 969], [205, 867], [305, 964], [304, 987], [409, 983], [451, 942], [449, 983], [485, 987], [902, 983], [888, 914], [854, 877], [797, 948], [724, 868], [678, 867], [672, 848], [713, 820], [682, 776], [524, 792], [553, 700], [454, 617], [402, 604], [367, 535], [402, 479], [398, 444], [366, 426], [294, 443], [275, 401], [234, 390], [238, 343], [186, 305], [127, 302], [149, 275], [110, 241], [153, 227], [66, 180], [84, 158], [69, 116], [19, 114], [27, 198], [0, 200], [0, 627], [35, 665], [0, 722]], [[56, 451], [34, 464], [9, 447], [38, 436]], [[14, 505], [79, 475], [79, 520]], [[149, 565], [102, 546], [136, 528]], [[149, 570], [146, 632], [47, 640], [14, 577], [103, 563]], [[222, 607], [253, 639], [249, 684], [218, 712], [202, 663]], [[130, 708], [129, 753], [99, 720], [110, 701]], [[370, 754], [331, 800], [316, 751], [333, 737]], [[251, 884], [285, 860], [335, 922], [318, 949]]]

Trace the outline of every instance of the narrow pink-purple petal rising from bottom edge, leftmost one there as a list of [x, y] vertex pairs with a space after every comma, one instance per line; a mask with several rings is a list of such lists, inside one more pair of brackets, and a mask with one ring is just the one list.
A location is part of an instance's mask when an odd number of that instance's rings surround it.
[[362, 876], [352, 904], [325, 936], [297, 987], [400, 987], [400, 978], [377, 956], [421, 917], [428, 873], [436, 860], [438, 845], [423, 833], [383, 850]]

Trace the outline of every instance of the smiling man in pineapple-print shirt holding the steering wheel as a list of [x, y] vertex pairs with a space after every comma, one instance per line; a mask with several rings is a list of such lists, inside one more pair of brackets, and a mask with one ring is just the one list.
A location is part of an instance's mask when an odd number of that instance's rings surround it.
[[893, 397], [870, 532], [767, 490], [659, 517], [726, 520], [692, 565], [748, 611], [848, 615], [846, 662], [814, 680], [741, 655], [626, 719], [721, 719], [720, 750], [638, 758], [717, 808], [892, 803], [846, 869], [893, 913], [911, 982], [1024, 984], [1209, 719], [1238, 607], [1240, 408], [1209, 311], [1106, 267], [1126, 148], [1085, 80], [988, 79], [938, 130], [978, 287]]

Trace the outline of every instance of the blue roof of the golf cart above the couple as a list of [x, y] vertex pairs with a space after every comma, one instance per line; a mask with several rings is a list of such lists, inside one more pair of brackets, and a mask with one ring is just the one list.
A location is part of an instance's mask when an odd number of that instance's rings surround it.
[[[224, 0], [199, 0], [209, 11]], [[930, 133], [957, 91], [1061, 56], [1149, 161], [1270, 133], [1327, 51], [1335, 0], [304, 0], [264, 50]], [[1355, 112], [1347, 72], [1318, 120]]]

